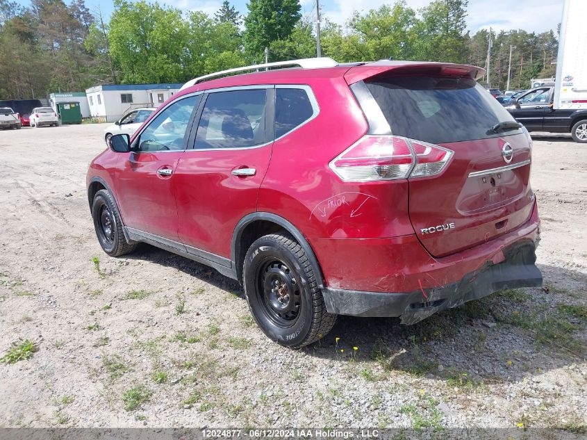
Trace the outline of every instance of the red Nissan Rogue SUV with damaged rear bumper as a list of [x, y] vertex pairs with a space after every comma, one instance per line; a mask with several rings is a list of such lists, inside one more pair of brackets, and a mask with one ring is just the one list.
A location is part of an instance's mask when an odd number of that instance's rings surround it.
[[337, 314], [413, 324], [542, 284], [531, 138], [483, 70], [304, 63], [327, 67], [192, 80], [113, 136], [88, 171], [104, 251], [149, 243], [237, 279], [290, 347]]

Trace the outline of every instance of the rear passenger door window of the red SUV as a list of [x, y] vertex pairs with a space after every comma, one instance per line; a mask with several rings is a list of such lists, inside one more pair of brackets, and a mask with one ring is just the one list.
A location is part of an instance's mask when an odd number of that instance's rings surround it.
[[266, 142], [267, 90], [210, 93], [202, 111], [195, 148], [244, 148]]

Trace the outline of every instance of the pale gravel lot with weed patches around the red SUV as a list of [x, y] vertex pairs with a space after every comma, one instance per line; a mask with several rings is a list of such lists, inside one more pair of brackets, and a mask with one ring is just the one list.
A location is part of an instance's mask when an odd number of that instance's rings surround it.
[[[412, 327], [341, 317], [304, 350], [240, 287], [142, 245], [99, 247], [85, 172], [104, 125], [0, 131], [0, 427], [559, 427], [587, 430], [587, 145], [535, 137], [544, 288]], [[354, 350], [356, 347], [356, 350]]]

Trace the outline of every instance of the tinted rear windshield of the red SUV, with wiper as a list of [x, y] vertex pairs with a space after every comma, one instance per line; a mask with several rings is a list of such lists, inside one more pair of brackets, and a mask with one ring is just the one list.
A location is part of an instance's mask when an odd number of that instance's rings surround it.
[[365, 85], [398, 136], [439, 144], [520, 133], [491, 130], [513, 117], [473, 79], [394, 76]]

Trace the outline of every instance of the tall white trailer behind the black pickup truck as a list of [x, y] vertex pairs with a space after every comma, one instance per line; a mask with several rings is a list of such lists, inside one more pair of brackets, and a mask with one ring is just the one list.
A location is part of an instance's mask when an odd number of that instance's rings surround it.
[[565, 0], [556, 60], [554, 108], [587, 108], [587, 0]]

